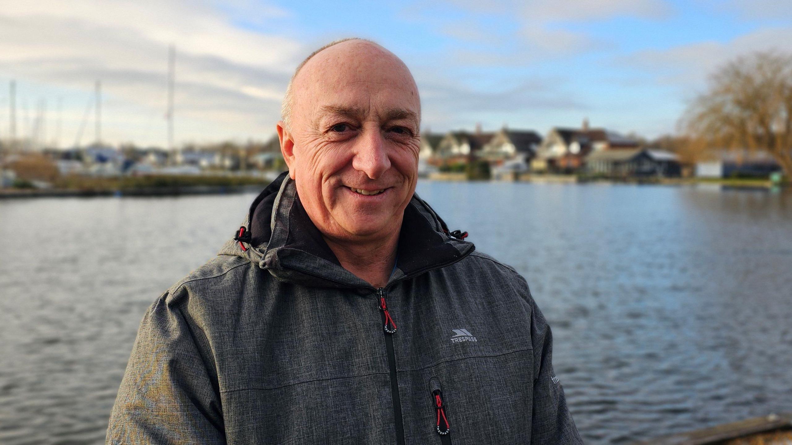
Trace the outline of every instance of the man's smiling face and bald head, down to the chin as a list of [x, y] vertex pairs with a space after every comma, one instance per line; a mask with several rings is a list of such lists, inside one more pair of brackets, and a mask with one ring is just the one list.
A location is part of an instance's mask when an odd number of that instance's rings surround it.
[[310, 59], [292, 88], [291, 129], [278, 131], [310, 219], [337, 241], [398, 230], [420, 149], [412, 75], [383, 48], [351, 40]]

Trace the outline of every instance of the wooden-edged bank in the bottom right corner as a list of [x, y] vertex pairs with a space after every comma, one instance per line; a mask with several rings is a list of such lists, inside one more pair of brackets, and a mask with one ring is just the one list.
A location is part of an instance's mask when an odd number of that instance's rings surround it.
[[634, 445], [792, 445], [792, 413], [754, 417]]

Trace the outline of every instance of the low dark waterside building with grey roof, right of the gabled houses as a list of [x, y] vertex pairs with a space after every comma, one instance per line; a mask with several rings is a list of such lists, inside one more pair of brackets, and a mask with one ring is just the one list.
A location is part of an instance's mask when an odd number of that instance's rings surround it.
[[679, 177], [679, 158], [665, 150], [597, 150], [585, 158], [585, 171], [607, 177]]

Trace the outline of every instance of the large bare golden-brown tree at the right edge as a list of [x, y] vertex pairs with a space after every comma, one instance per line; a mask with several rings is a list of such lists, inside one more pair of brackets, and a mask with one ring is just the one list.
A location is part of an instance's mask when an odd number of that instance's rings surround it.
[[757, 52], [726, 63], [682, 124], [696, 146], [766, 151], [792, 177], [792, 55]]

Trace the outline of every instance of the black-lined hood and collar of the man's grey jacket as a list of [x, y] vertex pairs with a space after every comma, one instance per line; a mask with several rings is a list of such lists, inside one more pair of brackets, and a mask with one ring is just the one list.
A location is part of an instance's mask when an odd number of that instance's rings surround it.
[[[449, 232], [428, 203], [413, 194], [404, 211], [396, 270], [388, 284], [463, 259], [475, 249]], [[308, 217], [294, 181], [281, 173], [250, 204], [247, 218], [219, 255], [247, 258], [278, 280], [313, 287], [357, 287], [371, 284], [341, 266]]]

